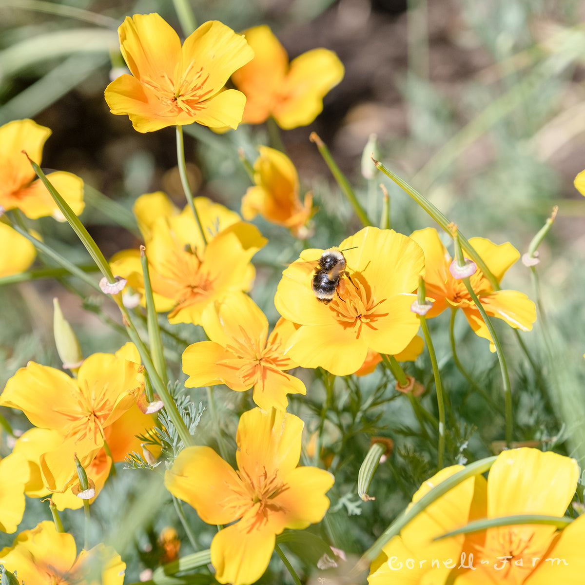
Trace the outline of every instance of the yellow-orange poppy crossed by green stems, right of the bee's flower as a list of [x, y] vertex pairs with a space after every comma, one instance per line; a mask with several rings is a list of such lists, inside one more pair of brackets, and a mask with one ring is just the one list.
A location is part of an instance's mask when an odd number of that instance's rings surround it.
[[[437, 230], [434, 228], [420, 229], [412, 233], [410, 237], [425, 252], [426, 294], [435, 300], [426, 316], [439, 315], [447, 307], [461, 308], [473, 331], [480, 337], [488, 339], [490, 350], [495, 352], [490, 332], [469, 296], [463, 281], [454, 278], [449, 271], [451, 257], [439, 239]], [[510, 266], [520, 257], [518, 250], [509, 242], [498, 246], [485, 238], [472, 238], [469, 243], [481, 256], [498, 283]], [[488, 315], [503, 319], [516, 329], [531, 331], [532, 324], [536, 321], [536, 307], [534, 302], [529, 300], [524, 293], [512, 290], [494, 291], [490, 281], [483, 276], [479, 269], [470, 277], [470, 283]]]

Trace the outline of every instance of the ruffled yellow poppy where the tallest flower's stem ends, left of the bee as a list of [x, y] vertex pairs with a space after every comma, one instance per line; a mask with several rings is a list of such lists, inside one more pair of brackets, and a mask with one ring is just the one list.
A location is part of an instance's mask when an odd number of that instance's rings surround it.
[[[238, 221], [238, 214], [222, 205], [197, 198], [195, 206], [198, 212], [202, 211], [200, 219], [207, 233], [207, 246], [188, 208], [177, 215], [172, 207], [167, 207], [170, 215], [157, 219], [146, 212], [140, 215], [143, 229], [149, 234], [146, 254], [154, 304], [159, 312], [170, 311], [171, 323], [199, 324], [209, 303], [230, 291], [249, 290], [254, 279], [250, 259], [267, 242], [255, 226]], [[116, 254], [111, 267], [114, 274], [128, 280], [130, 287], [143, 293], [137, 250]]]

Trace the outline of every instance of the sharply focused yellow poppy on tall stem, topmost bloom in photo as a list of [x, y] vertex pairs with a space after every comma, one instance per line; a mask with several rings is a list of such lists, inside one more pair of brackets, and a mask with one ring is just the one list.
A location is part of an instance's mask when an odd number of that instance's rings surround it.
[[112, 113], [128, 114], [138, 132], [193, 122], [237, 128], [246, 98], [222, 90], [254, 56], [242, 35], [211, 20], [181, 47], [177, 33], [156, 13], [126, 16], [118, 35], [132, 75], [121, 75], [106, 88]]

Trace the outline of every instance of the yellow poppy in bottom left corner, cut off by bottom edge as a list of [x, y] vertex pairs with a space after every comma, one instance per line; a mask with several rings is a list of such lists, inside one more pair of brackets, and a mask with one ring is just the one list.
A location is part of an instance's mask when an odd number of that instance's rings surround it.
[[[126, 570], [126, 563], [111, 546], [99, 544], [77, 555], [73, 536], [57, 532], [50, 521], [20, 532], [12, 546], [0, 550], [0, 563], [27, 585], [122, 585]], [[101, 576], [95, 574], [97, 567]]]

